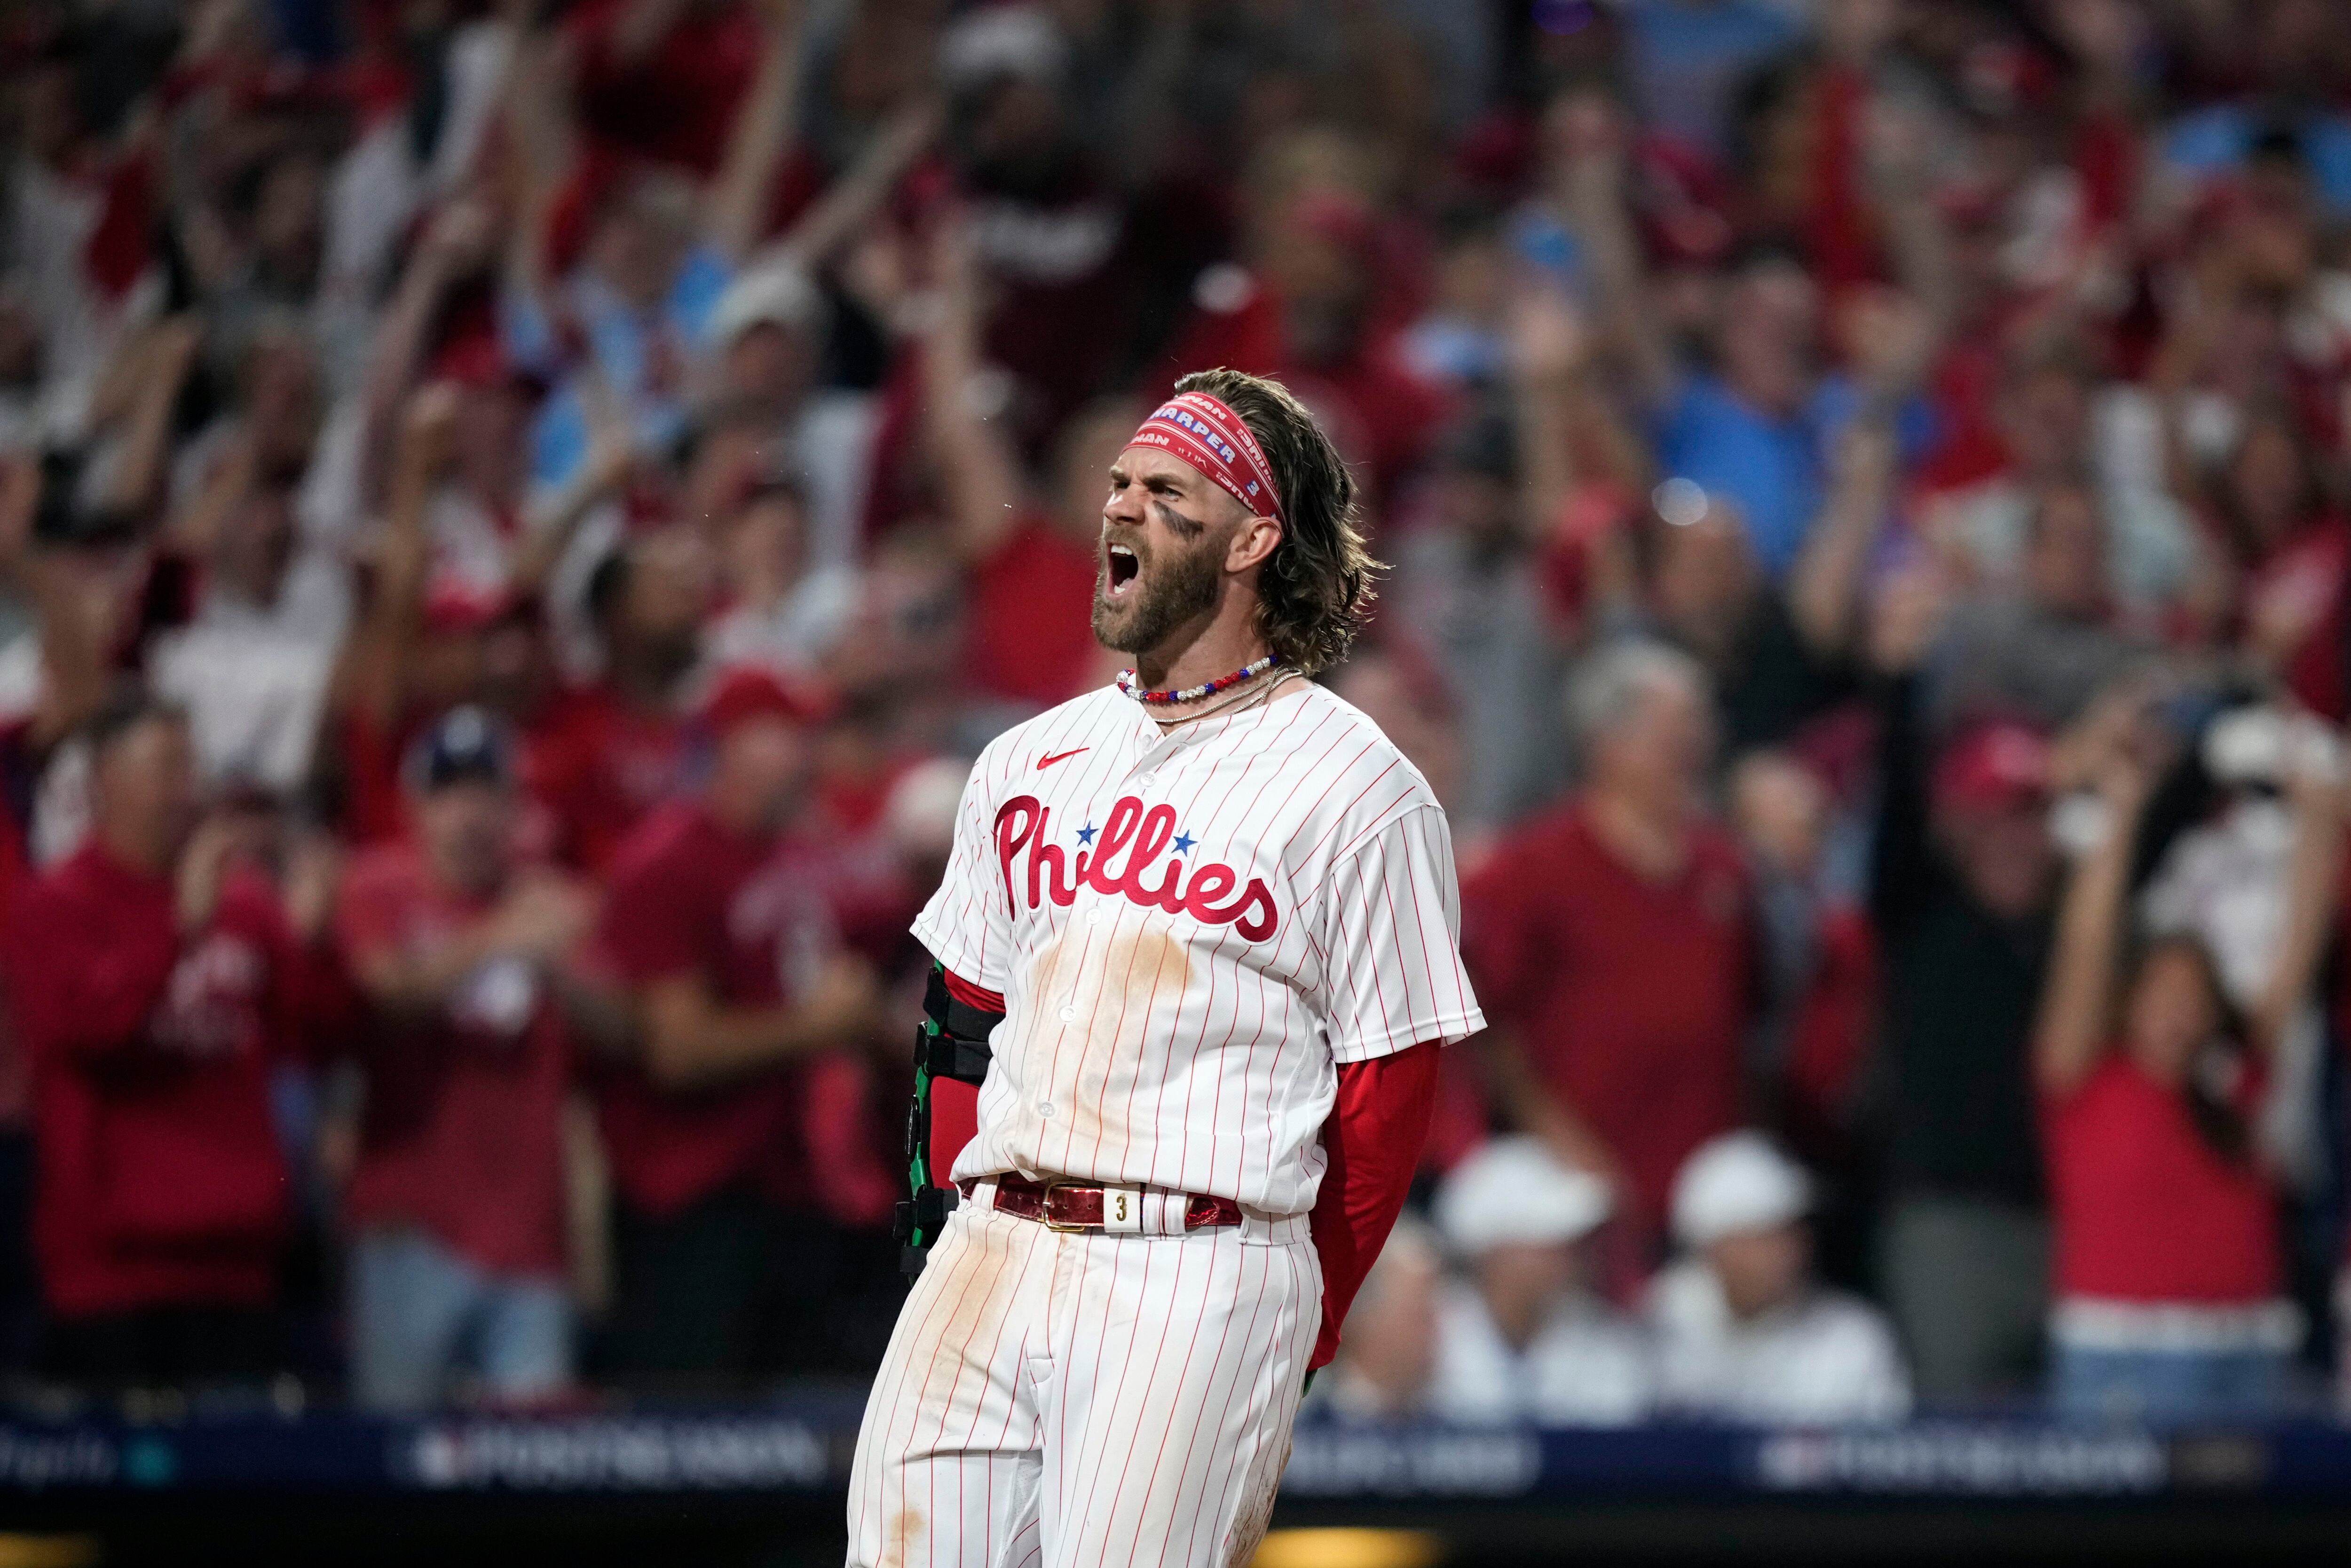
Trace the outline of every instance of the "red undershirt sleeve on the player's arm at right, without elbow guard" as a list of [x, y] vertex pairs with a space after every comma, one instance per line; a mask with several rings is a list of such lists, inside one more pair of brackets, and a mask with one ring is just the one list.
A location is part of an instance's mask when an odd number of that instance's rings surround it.
[[1338, 1354], [1347, 1307], [1404, 1211], [1436, 1103], [1436, 1051], [1439, 1041], [1427, 1039], [1394, 1056], [1338, 1067], [1338, 1105], [1324, 1121], [1328, 1168], [1312, 1215], [1314, 1253], [1324, 1267], [1324, 1321], [1310, 1368], [1328, 1366]]

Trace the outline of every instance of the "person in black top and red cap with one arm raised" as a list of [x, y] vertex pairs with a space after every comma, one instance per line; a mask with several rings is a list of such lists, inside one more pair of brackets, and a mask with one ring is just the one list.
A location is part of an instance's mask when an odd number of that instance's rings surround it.
[[1869, 917], [1883, 954], [1886, 1305], [1923, 1399], [2034, 1382], [2048, 1218], [2029, 1084], [2057, 870], [2048, 741], [1980, 719], [1935, 752], [1916, 661], [1937, 599], [1916, 578], [1874, 614], [1878, 825]]

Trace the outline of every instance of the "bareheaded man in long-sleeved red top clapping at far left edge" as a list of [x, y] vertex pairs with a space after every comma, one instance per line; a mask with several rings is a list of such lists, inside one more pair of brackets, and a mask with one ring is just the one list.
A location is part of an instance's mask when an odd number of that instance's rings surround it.
[[292, 1218], [270, 1067], [301, 1041], [320, 966], [233, 825], [195, 823], [183, 715], [125, 696], [89, 745], [89, 839], [7, 940], [52, 1371], [259, 1378]]

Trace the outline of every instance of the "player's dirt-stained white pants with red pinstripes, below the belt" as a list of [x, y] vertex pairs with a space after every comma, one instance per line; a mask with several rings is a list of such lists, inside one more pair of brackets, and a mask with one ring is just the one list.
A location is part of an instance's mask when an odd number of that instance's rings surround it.
[[865, 1401], [851, 1568], [1232, 1568], [1321, 1324], [1305, 1215], [1180, 1237], [947, 1218]]

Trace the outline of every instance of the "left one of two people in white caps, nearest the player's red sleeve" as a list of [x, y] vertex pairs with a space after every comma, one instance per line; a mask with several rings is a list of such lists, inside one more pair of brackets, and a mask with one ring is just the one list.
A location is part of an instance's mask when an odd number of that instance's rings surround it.
[[1436, 1192], [1436, 1225], [1469, 1276], [1436, 1300], [1429, 1406], [1460, 1422], [1622, 1427], [1655, 1403], [1641, 1331], [1594, 1293], [1582, 1241], [1608, 1187], [1538, 1138], [1498, 1138]]

